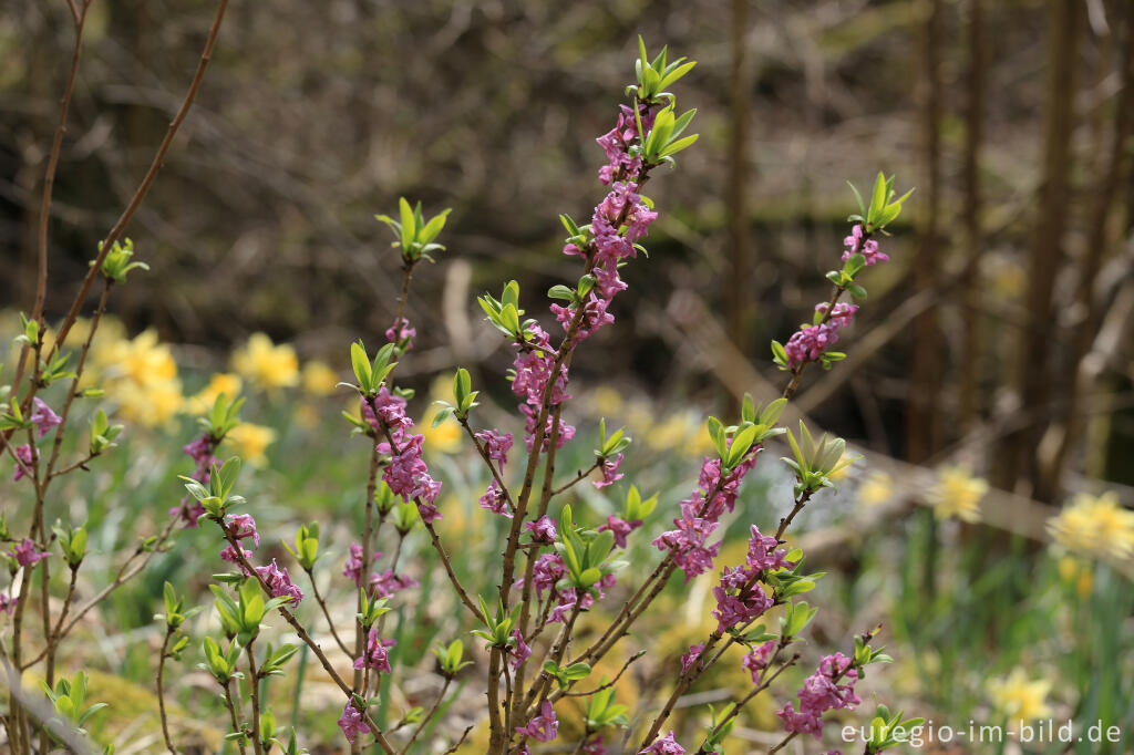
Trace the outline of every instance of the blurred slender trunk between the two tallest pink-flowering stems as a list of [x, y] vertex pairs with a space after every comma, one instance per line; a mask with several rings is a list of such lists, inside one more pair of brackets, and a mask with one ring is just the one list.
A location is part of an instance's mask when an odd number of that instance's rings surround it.
[[[748, 314], [752, 298], [752, 275], [748, 239], [747, 181], [751, 170], [748, 156], [748, 105], [752, 80], [748, 75], [747, 34], [748, 0], [733, 0], [731, 48], [731, 122], [729, 126], [728, 166], [728, 275], [725, 279], [725, 312], [729, 338], [747, 356]], [[733, 414], [739, 412], [730, 398]]]

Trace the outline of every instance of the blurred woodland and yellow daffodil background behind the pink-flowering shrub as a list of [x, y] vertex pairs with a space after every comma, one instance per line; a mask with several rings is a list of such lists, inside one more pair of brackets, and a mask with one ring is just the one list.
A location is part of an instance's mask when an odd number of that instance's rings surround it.
[[[145, 171], [211, 9], [92, 6], [54, 187], [49, 320], [66, 311]], [[702, 413], [728, 412], [745, 390], [778, 392], [767, 345], [827, 294], [823, 272], [854, 210], [846, 179], [896, 173], [899, 189], [917, 192], [883, 240], [892, 262], [865, 281], [871, 298], [843, 343], [850, 357], [809, 373], [798, 400], [868, 452], [839, 497], [803, 521], [809, 553], [837, 575], [823, 596], [843, 606], [832, 605], [841, 618], [816, 644], [885, 620], [902, 668], [874, 676], [907, 709], [956, 726], [1039, 701], [1030, 713], [1124, 726], [1126, 744], [1109, 752], [1128, 752], [1132, 3], [278, 0], [228, 12], [197, 104], [128, 229], [152, 270], [116, 290], [120, 328], [100, 337], [96, 380], [132, 431], [122, 453], [58, 502], [102, 533], [108, 562], [93, 585], [112, 575], [115, 548], [176, 502], [194, 398], [231, 381], [214, 376], [229, 371], [253, 398], [254, 424], [234, 444], [255, 459], [249, 498], [266, 499], [257, 519], [270, 528], [274, 518], [287, 536], [296, 520], [339, 517], [329, 568], [338, 570], [365, 455], [349, 453], [337, 417], [345, 399], [327, 393], [347, 366], [346, 345], [379, 342], [393, 317], [398, 255], [373, 214], [400, 195], [428, 213], [454, 209], [448, 252], [418, 270], [411, 299], [420, 336], [398, 372], [418, 389], [416, 416], [441, 390], [434, 379], [463, 364], [499, 401], [488, 417], [514, 422], [502, 381], [510, 355], [474, 297], [515, 278], [535, 313], [539, 295], [573, 273], [556, 215], [586, 217], [601, 196], [593, 139], [610, 128], [641, 33], [651, 49], [666, 43], [699, 61], [680, 96], [699, 109], [702, 138], [651, 184], [661, 219], [650, 260], [626, 275], [616, 328], [573, 365], [581, 431], [599, 416], [629, 425], [640, 443], [627, 467], [661, 493], [661, 527], [696, 474]], [[0, 12], [0, 308], [12, 312], [33, 297], [41, 183], [70, 44], [64, 2]], [[249, 346], [254, 333], [265, 336]], [[268, 339], [291, 346], [274, 351]], [[279, 359], [294, 380], [257, 379], [257, 364]], [[485, 533], [460, 558], [475, 575], [492, 552], [493, 523], [475, 508], [486, 481], [445, 451], [459, 439], [438, 432], [446, 527], [473, 521]], [[674, 452], [687, 452], [684, 467], [665, 460]], [[577, 453], [570, 464], [587, 466], [589, 449]], [[139, 458], [147, 464], [130, 464]], [[744, 521], [782, 508], [784, 481], [765, 461]], [[617, 507], [593, 491], [585, 499], [596, 517]], [[964, 516], [978, 501], [988, 526]], [[1081, 507], [1065, 523], [1074, 536], [1039, 545], [1067, 502]], [[403, 558], [429, 594], [421, 544]], [[150, 596], [164, 578], [203, 586], [218, 568], [213, 545], [188, 533], [116, 594], [117, 616], [87, 628], [105, 658], [103, 684], [147, 694]], [[697, 637], [708, 596], [671, 585], [667, 597], [687, 620], [657, 642], [678, 653]], [[346, 606], [349, 591], [339, 599]], [[435, 605], [411, 599], [405, 611], [414, 610], [430, 629], [399, 645], [399, 662], [420, 675], [395, 706], [430, 689], [430, 633], [455, 631]], [[651, 673], [638, 688], [668, 678]], [[187, 673], [187, 704], [200, 697], [194, 684], [203, 682]], [[325, 711], [314, 705], [329, 740], [332, 697]], [[476, 705], [467, 703], [469, 716]], [[751, 741], [773, 728], [770, 705], [746, 721]], [[692, 732], [704, 721], [689, 710]], [[127, 748], [145, 741], [133, 720], [107, 726]], [[152, 720], [137, 726], [153, 735]]]

